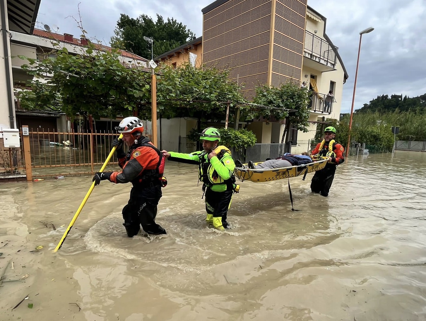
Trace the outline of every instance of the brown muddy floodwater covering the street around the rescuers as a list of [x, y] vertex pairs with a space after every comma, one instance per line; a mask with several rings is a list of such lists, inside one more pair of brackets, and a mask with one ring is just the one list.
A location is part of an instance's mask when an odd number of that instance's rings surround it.
[[352, 157], [328, 198], [292, 178], [296, 212], [286, 180], [243, 182], [223, 233], [196, 166], [166, 176], [167, 235], [127, 238], [131, 186], [102, 181], [58, 253], [91, 176], [1, 183], [0, 320], [426, 320], [426, 153]]

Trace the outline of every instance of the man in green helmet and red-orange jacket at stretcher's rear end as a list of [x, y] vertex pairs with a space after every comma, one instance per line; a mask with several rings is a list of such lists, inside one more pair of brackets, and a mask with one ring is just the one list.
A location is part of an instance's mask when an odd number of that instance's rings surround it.
[[315, 159], [315, 156], [328, 158], [325, 167], [316, 171], [311, 181], [311, 192], [320, 193], [322, 196], [328, 196], [336, 167], [345, 161], [343, 157], [344, 148], [336, 143], [335, 137], [336, 129], [334, 127], [325, 128], [324, 139], [321, 143], [318, 143], [311, 153], [313, 159]]

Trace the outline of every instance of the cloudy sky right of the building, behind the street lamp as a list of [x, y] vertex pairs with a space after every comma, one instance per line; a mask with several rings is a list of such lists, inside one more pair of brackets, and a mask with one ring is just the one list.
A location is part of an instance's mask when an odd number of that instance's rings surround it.
[[424, 2], [309, 0], [309, 5], [327, 17], [326, 32], [340, 48], [349, 73], [343, 86], [342, 112], [351, 108], [359, 32], [369, 26], [375, 30], [362, 38], [355, 109], [377, 95], [417, 96], [426, 92]]

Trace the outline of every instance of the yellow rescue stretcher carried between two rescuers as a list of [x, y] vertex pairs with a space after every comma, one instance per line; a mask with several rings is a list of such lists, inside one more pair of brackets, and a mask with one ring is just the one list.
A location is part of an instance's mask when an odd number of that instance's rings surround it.
[[[307, 173], [316, 172], [320, 169], [323, 169], [327, 161], [328, 159], [319, 159], [318, 161], [313, 161], [312, 163], [308, 164], [274, 169], [250, 169], [247, 168], [247, 164], [245, 164], [246, 168], [236, 167], [234, 169], [234, 173], [235, 176], [242, 182], [270, 182], [280, 180], [282, 178], [296, 177], [305, 175]], [[254, 164], [257, 165], [261, 163], [262, 162]]]

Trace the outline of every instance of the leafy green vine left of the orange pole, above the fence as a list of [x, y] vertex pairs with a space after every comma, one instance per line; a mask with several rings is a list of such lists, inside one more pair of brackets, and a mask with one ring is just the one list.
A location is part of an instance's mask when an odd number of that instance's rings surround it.
[[90, 44], [81, 55], [60, 48], [56, 57], [43, 61], [21, 57], [29, 61], [24, 70], [46, 79], [29, 83], [32, 92], [20, 97], [21, 105], [37, 109], [59, 105], [70, 117], [82, 113], [99, 118], [130, 115], [132, 109], [146, 104], [150, 74], [121, 63], [119, 50], [102, 52], [94, 47]]

